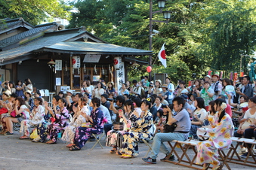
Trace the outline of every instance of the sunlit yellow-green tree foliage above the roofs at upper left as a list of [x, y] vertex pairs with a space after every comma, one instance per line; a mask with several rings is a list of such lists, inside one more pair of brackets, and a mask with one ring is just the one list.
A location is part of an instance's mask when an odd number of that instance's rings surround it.
[[50, 17], [69, 19], [71, 8], [57, 0], [0, 0], [0, 18], [23, 17], [36, 25]]

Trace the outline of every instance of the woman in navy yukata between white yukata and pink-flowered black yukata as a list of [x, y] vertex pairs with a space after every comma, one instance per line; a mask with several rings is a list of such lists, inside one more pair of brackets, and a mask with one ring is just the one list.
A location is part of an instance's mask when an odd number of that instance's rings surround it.
[[42, 121], [42, 123], [39, 123], [38, 126], [36, 126], [37, 129], [37, 134], [39, 135], [37, 138], [34, 138], [32, 140], [32, 142], [44, 142], [45, 138], [47, 137], [48, 134], [48, 125], [51, 124], [51, 113], [50, 111], [57, 111], [59, 110], [59, 106], [58, 106], [58, 100], [60, 99], [60, 96], [54, 96], [54, 98], [52, 99], [52, 104], [53, 107], [49, 107], [48, 106], [48, 102], [45, 102], [45, 116], [44, 116], [44, 120]]

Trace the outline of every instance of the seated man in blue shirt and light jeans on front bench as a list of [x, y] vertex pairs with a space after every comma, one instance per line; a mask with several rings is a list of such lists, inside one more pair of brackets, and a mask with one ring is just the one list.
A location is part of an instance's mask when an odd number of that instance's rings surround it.
[[156, 164], [156, 157], [159, 154], [159, 151], [165, 153], [166, 156], [161, 161], [165, 161], [166, 159], [174, 160], [174, 155], [171, 155], [168, 158], [168, 154], [170, 151], [167, 149], [164, 141], [186, 141], [190, 134], [191, 121], [190, 116], [186, 109], [184, 109], [185, 100], [182, 97], [175, 97], [173, 99], [174, 111], [177, 112], [176, 116], [171, 117], [171, 109], [168, 108], [169, 117], [168, 117], [168, 125], [172, 123], [176, 123], [177, 127], [174, 129], [174, 132], [168, 133], [157, 133], [153, 138], [152, 151], [149, 157], [143, 158], [144, 162]]

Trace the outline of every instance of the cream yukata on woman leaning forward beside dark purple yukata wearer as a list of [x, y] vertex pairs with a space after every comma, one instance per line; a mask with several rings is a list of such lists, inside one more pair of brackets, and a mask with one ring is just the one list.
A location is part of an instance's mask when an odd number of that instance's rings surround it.
[[[90, 115], [90, 111], [88, 110], [87, 106], [83, 106], [83, 108], [81, 109], [82, 113], [85, 113], [87, 115]], [[73, 117], [71, 123], [69, 123], [69, 126], [66, 127], [65, 131], [63, 132], [62, 135], [62, 140], [63, 141], [68, 141], [71, 144], [74, 143], [74, 138], [75, 138], [75, 133], [76, 133], [76, 129], [82, 125], [82, 123], [85, 123], [85, 117], [83, 117], [81, 114]]]

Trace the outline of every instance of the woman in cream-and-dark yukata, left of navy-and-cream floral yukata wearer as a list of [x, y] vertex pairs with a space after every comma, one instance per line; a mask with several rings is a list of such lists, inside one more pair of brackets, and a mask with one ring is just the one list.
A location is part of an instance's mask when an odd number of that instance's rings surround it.
[[122, 135], [125, 132], [128, 132], [128, 127], [131, 126], [131, 114], [134, 112], [134, 102], [131, 100], [126, 100], [124, 102], [124, 109], [125, 114], [123, 114], [123, 111], [120, 111], [119, 117], [120, 122], [125, 123], [123, 130], [109, 130], [107, 132], [107, 141], [106, 146], [113, 147], [112, 150], [110, 150], [110, 153], [116, 153], [118, 155], [122, 155], [121, 152], [119, 152], [118, 147], [122, 147]]

